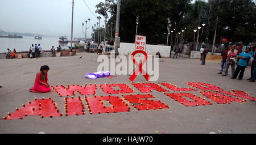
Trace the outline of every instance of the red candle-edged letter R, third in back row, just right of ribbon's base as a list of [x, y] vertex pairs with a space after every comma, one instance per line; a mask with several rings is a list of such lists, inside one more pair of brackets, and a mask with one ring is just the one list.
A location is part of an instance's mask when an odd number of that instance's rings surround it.
[[155, 83], [133, 83], [133, 86], [143, 93], [152, 92], [151, 89], [155, 89], [158, 92], [168, 92], [166, 89], [163, 89]]

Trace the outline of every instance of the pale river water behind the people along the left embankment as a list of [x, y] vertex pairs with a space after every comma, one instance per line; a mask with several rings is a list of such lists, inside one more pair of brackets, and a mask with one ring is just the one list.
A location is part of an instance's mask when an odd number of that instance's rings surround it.
[[0, 53], [7, 52], [7, 48], [11, 51], [15, 48], [16, 52], [28, 51], [31, 44], [40, 44], [42, 50], [51, 50], [52, 46], [56, 50], [59, 45], [63, 49], [68, 49], [67, 43], [59, 44], [59, 37], [43, 37], [42, 40], [37, 40], [34, 37], [23, 36], [22, 39], [0, 38]]

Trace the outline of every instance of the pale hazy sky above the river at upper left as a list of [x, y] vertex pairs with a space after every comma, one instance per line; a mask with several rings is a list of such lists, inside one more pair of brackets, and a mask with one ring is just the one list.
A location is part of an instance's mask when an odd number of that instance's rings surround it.
[[[89, 8], [85, 5], [87, 3]], [[96, 5], [104, 0], [75, 0], [73, 36], [84, 37], [82, 23], [90, 18], [87, 37], [98, 22]], [[95, 17], [96, 16], [96, 17]], [[9, 32], [39, 33], [49, 36], [71, 36], [72, 0], [0, 0], [0, 29]], [[100, 25], [105, 25], [101, 19]], [[87, 23], [88, 27], [88, 23]], [[96, 24], [97, 27], [97, 24]], [[105, 26], [104, 26], [105, 27]], [[85, 25], [84, 25], [85, 32]]]

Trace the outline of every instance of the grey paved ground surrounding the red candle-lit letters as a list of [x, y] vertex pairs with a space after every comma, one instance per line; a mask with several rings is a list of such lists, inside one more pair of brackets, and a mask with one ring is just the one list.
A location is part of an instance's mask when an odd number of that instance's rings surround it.
[[[28, 92], [34, 85], [36, 72], [42, 65], [50, 67], [48, 79], [52, 86], [73, 83], [130, 84], [128, 75], [112, 79], [84, 78], [87, 72], [97, 71], [100, 64], [97, 63], [97, 57], [95, 53], [77, 53], [76, 56], [60, 58], [0, 59], [0, 86], [3, 86], [0, 88], [0, 117], [6, 116], [7, 112], [14, 112], [16, 107], [20, 108], [22, 104], [27, 104], [27, 101], [32, 101], [35, 97], [52, 97], [58, 104], [60, 113], [64, 113], [64, 98], [59, 97], [56, 92]], [[246, 80], [250, 78], [250, 67], [246, 68], [242, 80], [218, 75], [220, 63], [206, 62], [205, 66], [201, 66], [199, 59], [160, 58], [159, 67], [159, 80], [155, 83], [164, 81], [178, 87], [189, 87], [184, 82], [205, 82], [215, 84], [225, 91], [240, 89], [248, 92], [250, 96], [256, 96], [256, 83], [249, 83]], [[140, 75], [134, 82], [145, 81]], [[138, 89], [131, 85], [130, 87], [134, 89], [135, 94], [139, 93]], [[198, 91], [191, 93], [201, 96]], [[213, 105], [185, 107], [165, 96], [163, 92], [153, 91], [151, 94], [156, 96], [155, 100], [161, 100], [171, 108], [138, 111], [130, 106], [131, 111], [123, 113], [85, 112], [85, 115], [81, 116], [53, 118], [28, 116], [23, 120], [0, 121], [0, 133], [256, 133], [255, 101], [231, 104], [217, 104], [212, 101]], [[104, 95], [99, 87], [97, 95]], [[122, 98], [121, 95], [119, 97]]]

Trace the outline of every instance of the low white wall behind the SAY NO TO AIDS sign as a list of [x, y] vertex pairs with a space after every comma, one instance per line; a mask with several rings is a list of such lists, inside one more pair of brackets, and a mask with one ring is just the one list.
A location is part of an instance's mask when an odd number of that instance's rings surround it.
[[[157, 52], [160, 53], [161, 57], [170, 57], [170, 49], [171, 46], [164, 45], [149, 45], [146, 44], [146, 53], [147, 55], [154, 56]], [[118, 50], [119, 54], [123, 54], [125, 56], [131, 55], [135, 50], [134, 43], [120, 43], [120, 48]]]

